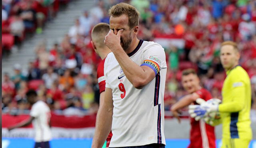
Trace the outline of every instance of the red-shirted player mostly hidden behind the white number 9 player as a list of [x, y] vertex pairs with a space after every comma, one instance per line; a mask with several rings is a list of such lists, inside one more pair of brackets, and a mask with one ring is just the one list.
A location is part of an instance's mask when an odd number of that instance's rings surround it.
[[[104, 44], [105, 36], [109, 32], [109, 25], [106, 23], [99, 23], [92, 29], [92, 45], [94, 47], [95, 52], [100, 56], [102, 61], [100, 61], [98, 68], [97, 68], [97, 78], [98, 78], [98, 84], [100, 87], [100, 107], [102, 106], [102, 103], [104, 102], [104, 93], [105, 93], [105, 78], [104, 78], [104, 62], [108, 55], [108, 53], [111, 52], [111, 50]], [[97, 115], [97, 120], [98, 120]], [[112, 132], [110, 131], [108, 138], [107, 138], [107, 145], [109, 146], [110, 140], [112, 137]]]

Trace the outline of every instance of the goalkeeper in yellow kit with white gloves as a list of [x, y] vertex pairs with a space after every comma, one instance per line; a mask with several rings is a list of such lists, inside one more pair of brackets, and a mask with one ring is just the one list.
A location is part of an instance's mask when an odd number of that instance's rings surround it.
[[[221, 45], [220, 60], [227, 77], [222, 87], [222, 103], [202, 103], [190, 107], [190, 114], [206, 118], [210, 112], [220, 112], [220, 119], [212, 125], [222, 123], [221, 148], [248, 148], [252, 139], [250, 127], [251, 85], [246, 71], [238, 65], [240, 53], [233, 41]], [[195, 116], [193, 116], [195, 117]]]

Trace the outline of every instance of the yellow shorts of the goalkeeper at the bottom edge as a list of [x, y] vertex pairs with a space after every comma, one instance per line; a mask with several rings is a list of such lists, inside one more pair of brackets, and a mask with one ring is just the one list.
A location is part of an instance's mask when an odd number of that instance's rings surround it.
[[250, 140], [240, 138], [222, 138], [221, 148], [248, 148]]

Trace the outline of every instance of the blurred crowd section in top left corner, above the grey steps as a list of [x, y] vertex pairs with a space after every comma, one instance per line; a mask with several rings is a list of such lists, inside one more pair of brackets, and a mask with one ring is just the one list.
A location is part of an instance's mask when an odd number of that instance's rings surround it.
[[41, 34], [44, 24], [54, 19], [60, 3], [69, 0], [2, 0], [2, 49], [19, 45], [27, 33]]

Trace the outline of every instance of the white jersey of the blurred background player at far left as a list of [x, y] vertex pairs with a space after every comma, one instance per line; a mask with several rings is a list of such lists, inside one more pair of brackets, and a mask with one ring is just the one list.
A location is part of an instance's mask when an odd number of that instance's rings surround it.
[[49, 121], [51, 117], [50, 108], [44, 101], [37, 101], [32, 105], [30, 116], [35, 117], [32, 124], [35, 129], [35, 141], [46, 142], [52, 138]]

